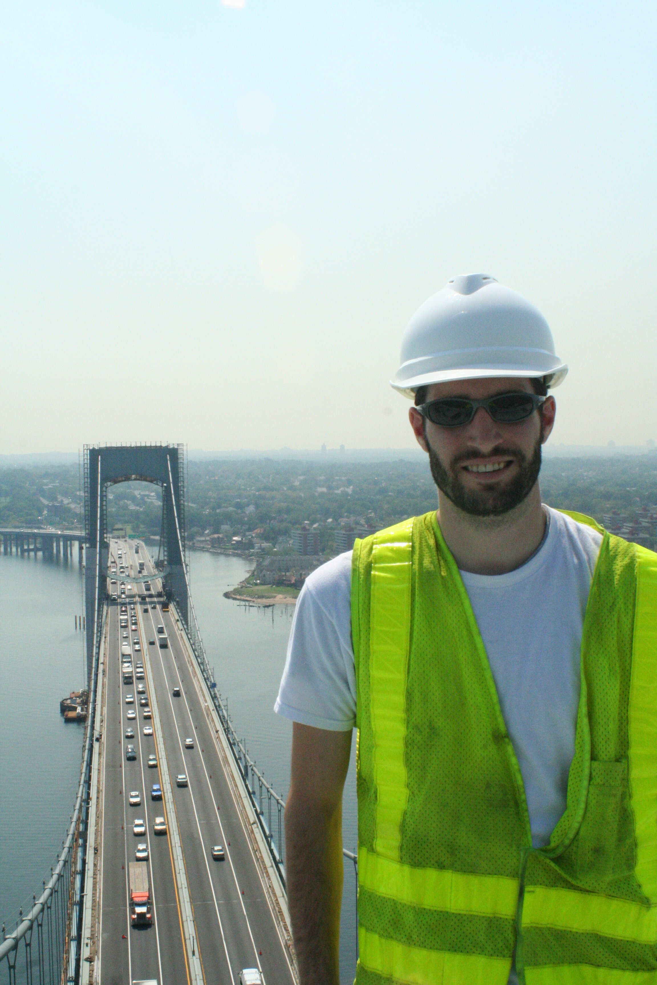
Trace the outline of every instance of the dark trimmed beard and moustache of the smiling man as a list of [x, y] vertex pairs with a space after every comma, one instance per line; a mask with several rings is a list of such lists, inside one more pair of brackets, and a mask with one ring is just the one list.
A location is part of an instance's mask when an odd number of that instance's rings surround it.
[[441, 493], [462, 509], [464, 513], [471, 516], [501, 516], [509, 510], [519, 505], [532, 491], [536, 480], [541, 471], [541, 444], [543, 428], [539, 436], [531, 458], [527, 458], [517, 448], [509, 448], [506, 445], [496, 445], [489, 454], [493, 457], [512, 458], [517, 466], [515, 478], [510, 483], [492, 483], [487, 489], [466, 489], [460, 478], [460, 465], [473, 459], [481, 458], [481, 454], [475, 451], [466, 451], [457, 456], [451, 463], [450, 469], [446, 469], [437, 454], [427, 441], [428, 461], [431, 467], [433, 482]]

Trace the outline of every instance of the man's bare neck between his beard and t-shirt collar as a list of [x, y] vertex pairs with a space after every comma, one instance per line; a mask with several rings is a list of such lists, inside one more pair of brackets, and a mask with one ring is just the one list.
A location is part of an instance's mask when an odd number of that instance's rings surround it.
[[438, 524], [456, 563], [473, 574], [506, 574], [537, 550], [546, 529], [539, 484], [502, 516], [471, 516], [440, 494]]

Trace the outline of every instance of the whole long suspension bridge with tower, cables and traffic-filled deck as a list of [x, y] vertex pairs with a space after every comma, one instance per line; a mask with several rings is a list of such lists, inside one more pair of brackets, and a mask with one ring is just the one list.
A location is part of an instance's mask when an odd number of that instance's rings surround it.
[[[158, 562], [107, 531], [107, 490], [134, 481], [162, 490]], [[183, 446], [85, 446], [84, 496], [80, 784], [50, 880], [3, 928], [0, 981], [4, 969], [9, 985], [240, 985], [252, 969], [294, 983], [285, 802], [236, 734], [206, 656], [185, 562]], [[0, 533], [5, 552], [81, 541]], [[136, 860], [150, 922], [133, 919]]]

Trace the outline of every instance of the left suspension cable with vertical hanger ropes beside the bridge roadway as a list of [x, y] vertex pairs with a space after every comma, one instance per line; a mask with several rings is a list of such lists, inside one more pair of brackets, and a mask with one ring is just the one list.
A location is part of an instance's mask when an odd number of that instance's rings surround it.
[[[94, 661], [83, 745], [80, 783], [71, 822], [57, 864], [27, 916], [19, 911], [16, 929], [7, 933], [3, 924], [0, 969], [7, 970], [9, 985], [68, 985], [80, 980], [82, 945], [82, 886], [87, 863], [90, 780], [96, 732], [96, 693], [102, 634], [100, 600], [100, 552], [96, 558], [96, 618]], [[35, 933], [34, 933], [35, 932]]]

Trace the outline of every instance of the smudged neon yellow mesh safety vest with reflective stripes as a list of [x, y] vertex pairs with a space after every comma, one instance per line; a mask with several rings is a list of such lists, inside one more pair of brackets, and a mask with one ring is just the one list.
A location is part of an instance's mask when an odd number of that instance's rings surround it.
[[657, 555], [604, 535], [545, 848], [435, 513], [356, 542], [352, 633], [358, 985], [506, 985], [514, 952], [521, 985], [657, 985]]

